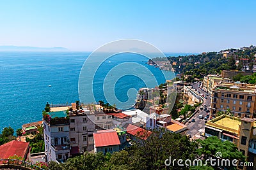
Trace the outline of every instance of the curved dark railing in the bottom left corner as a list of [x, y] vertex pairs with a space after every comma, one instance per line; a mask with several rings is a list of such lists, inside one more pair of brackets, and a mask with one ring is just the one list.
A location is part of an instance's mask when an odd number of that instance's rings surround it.
[[26, 169], [36, 169], [36, 170], [45, 170], [42, 167], [38, 167], [30, 162], [26, 162], [24, 160], [18, 160], [18, 159], [0, 159], [0, 168], [1, 167], [24, 167]]

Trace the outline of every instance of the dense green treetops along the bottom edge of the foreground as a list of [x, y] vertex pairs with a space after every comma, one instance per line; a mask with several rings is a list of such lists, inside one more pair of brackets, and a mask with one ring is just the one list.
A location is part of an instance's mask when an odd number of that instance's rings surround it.
[[159, 129], [159, 131], [154, 131], [147, 140], [137, 141], [126, 150], [113, 154], [106, 153], [106, 155], [101, 152], [86, 152], [84, 155], [69, 158], [63, 164], [50, 162], [49, 169], [216, 169], [210, 165], [181, 167], [177, 165], [177, 161], [174, 166], [165, 166], [164, 164], [165, 160], [170, 157], [172, 160], [202, 159], [204, 163], [210, 157], [214, 159], [216, 152], [221, 152], [223, 159], [241, 161], [245, 159], [233, 143], [222, 142], [215, 136], [204, 141], [190, 141], [186, 136]]

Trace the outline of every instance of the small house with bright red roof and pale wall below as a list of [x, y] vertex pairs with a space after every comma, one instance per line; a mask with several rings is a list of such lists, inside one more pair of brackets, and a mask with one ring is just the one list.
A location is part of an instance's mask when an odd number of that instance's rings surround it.
[[115, 130], [100, 130], [93, 133], [94, 152], [113, 153], [119, 151], [121, 145]]

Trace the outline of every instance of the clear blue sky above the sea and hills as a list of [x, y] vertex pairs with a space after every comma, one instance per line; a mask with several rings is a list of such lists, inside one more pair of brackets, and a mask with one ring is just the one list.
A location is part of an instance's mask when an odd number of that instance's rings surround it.
[[256, 45], [256, 1], [0, 1], [0, 45], [92, 51], [141, 39], [163, 52]]

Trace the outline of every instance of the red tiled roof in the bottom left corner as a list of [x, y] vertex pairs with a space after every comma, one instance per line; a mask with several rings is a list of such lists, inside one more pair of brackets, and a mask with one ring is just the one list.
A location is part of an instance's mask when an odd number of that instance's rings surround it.
[[0, 158], [8, 159], [12, 155], [26, 158], [29, 149], [29, 143], [22, 141], [10, 141], [0, 146]]

